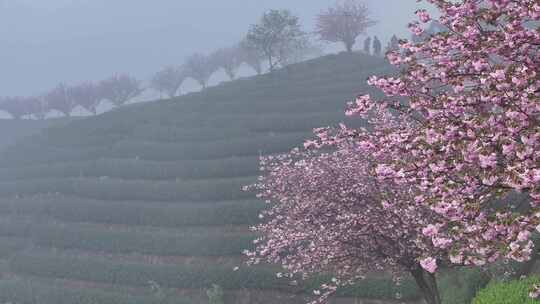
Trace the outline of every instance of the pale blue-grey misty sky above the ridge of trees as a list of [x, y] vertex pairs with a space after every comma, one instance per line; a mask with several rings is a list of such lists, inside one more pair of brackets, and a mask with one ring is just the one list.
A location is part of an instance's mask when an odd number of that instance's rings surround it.
[[[367, 0], [370, 35], [409, 37], [416, 0]], [[0, 0], [0, 95], [40, 94], [59, 82], [127, 72], [147, 80], [196, 51], [239, 41], [270, 8], [307, 31], [334, 0]], [[363, 40], [363, 38], [361, 38]], [[360, 44], [359, 44], [360, 45]]]

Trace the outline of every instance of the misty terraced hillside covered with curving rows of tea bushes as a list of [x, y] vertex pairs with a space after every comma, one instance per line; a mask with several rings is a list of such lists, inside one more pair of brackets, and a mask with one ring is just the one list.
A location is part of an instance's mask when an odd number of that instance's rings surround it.
[[[340, 54], [50, 127], [0, 156], [0, 301], [298, 303], [273, 266], [242, 266], [264, 207], [241, 191], [258, 157], [346, 121], [346, 101], [376, 93], [381, 58]], [[241, 266], [233, 271], [235, 266]], [[378, 278], [343, 297], [418, 298]]]

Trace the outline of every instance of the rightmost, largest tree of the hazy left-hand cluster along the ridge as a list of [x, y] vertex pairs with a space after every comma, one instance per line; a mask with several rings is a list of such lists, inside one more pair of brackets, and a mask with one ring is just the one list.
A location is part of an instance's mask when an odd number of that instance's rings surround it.
[[126, 74], [117, 74], [99, 83], [99, 91], [104, 99], [120, 107], [129, 100], [139, 96], [144, 89], [141, 83]]

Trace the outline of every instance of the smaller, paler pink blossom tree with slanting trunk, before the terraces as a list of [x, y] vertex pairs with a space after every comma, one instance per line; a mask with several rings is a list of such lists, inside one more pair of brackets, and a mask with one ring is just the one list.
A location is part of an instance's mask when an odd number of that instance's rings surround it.
[[308, 151], [262, 160], [265, 175], [249, 189], [270, 207], [255, 227], [262, 237], [248, 253], [251, 262], [278, 263], [291, 275], [332, 273], [319, 300], [370, 272], [391, 271], [411, 274], [426, 301], [440, 303], [435, 272], [451, 265], [450, 240], [431, 235], [443, 218], [413, 204], [409, 186], [379, 180], [371, 148], [346, 128], [337, 133], [341, 139], [329, 141], [337, 137], [320, 129]]

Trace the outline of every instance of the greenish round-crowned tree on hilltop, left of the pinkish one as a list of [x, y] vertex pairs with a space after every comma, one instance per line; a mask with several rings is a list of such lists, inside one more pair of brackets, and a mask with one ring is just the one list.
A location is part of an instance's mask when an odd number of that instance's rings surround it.
[[270, 10], [258, 24], [252, 25], [246, 36], [246, 46], [266, 57], [270, 71], [283, 66], [292, 50], [308, 45], [307, 34], [301, 29], [298, 17], [288, 10]]

